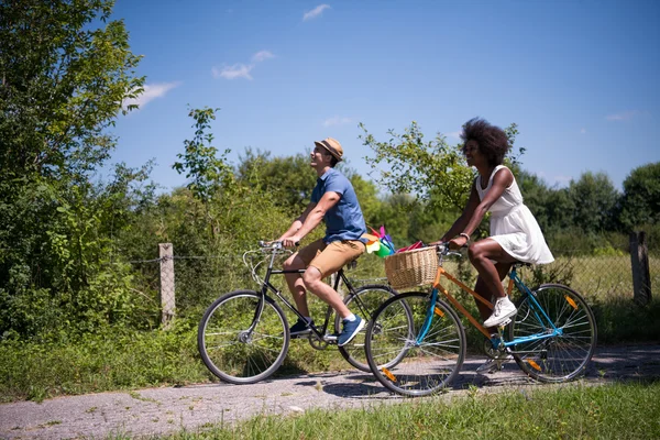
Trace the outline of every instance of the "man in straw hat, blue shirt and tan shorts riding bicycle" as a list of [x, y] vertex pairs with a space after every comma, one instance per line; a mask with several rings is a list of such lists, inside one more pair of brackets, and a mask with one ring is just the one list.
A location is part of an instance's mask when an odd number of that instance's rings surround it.
[[298, 319], [290, 328], [290, 333], [298, 338], [311, 332], [309, 324], [314, 321], [309, 316], [306, 294], [306, 290], [309, 290], [329, 304], [342, 318], [339, 346], [351, 342], [365, 324], [364, 319], [353, 315], [343, 304], [341, 296], [322, 282], [322, 278], [336, 273], [365, 251], [361, 237], [366, 232], [366, 227], [355, 190], [349, 179], [334, 169], [342, 155], [341, 144], [332, 138], [315, 142], [310, 165], [319, 178], [311, 193], [311, 201], [278, 239], [285, 246], [293, 248], [321, 220], [326, 220], [326, 237], [300, 249], [284, 263], [287, 271], [305, 270], [301, 275], [286, 274], [286, 282], [298, 311], [306, 319]]

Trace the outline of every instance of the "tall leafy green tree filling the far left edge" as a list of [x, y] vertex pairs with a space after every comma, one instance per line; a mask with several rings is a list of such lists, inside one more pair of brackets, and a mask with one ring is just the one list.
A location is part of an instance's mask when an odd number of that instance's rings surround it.
[[118, 169], [112, 194], [89, 177], [114, 147], [116, 118], [134, 108], [122, 102], [144, 81], [123, 23], [109, 21], [112, 6], [0, 2], [0, 333], [131, 315], [130, 275], [108, 268], [103, 223], [121, 217], [119, 188], [135, 174]]

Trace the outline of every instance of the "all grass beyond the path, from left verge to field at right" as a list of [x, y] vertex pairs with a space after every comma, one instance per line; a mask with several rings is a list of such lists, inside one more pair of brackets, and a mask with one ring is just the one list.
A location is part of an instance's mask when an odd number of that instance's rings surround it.
[[[584, 294], [596, 315], [600, 344], [659, 340], [660, 301], [656, 299], [646, 307], [632, 301], [629, 257], [562, 258], [558, 257], [553, 264], [573, 265], [570, 284]], [[653, 265], [659, 262], [651, 258], [650, 263]], [[452, 264], [449, 263], [447, 268], [458, 273]], [[349, 276], [358, 280], [369, 278], [370, 273], [382, 271], [382, 267], [370, 261], [359, 265]], [[651, 270], [656, 286], [660, 285], [659, 272]], [[526, 276], [528, 280], [529, 273]], [[625, 288], [620, 287], [623, 285]], [[594, 289], [587, 286], [594, 286]], [[471, 298], [459, 297], [474, 316], [479, 316]], [[326, 310], [324, 304], [315, 298], [310, 298], [310, 307], [315, 317], [322, 316]], [[292, 322], [295, 319], [293, 314], [287, 312], [287, 317]], [[196, 321], [179, 319], [169, 331], [111, 329], [103, 334], [69, 342], [0, 341], [0, 403], [216, 381], [197, 352], [196, 326]], [[480, 351], [483, 336], [466, 322], [465, 327], [469, 348]], [[301, 340], [292, 341], [288, 356], [277, 374], [348, 367], [336, 348], [318, 351]]]

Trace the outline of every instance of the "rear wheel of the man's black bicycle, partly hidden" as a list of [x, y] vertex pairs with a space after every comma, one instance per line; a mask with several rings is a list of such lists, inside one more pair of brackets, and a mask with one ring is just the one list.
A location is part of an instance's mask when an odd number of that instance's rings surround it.
[[[371, 372], [369, 363], [366, 362], [366, 355], [364, 354], [364, 336], [366, 334], [366, 328], [372, 321], [372, 317], [376, 309], [381, 307], [381, 305], [387, 299], [396, 295], [397, 292], [389, 286], [369, 285], [360, 287], [353, 295], [349, 295], [344, 299], [344, 304], [349, 309], [359, 315], [362, 319], [366, 320], [366, 326], [364, 326], [364, 329], [362, 329], [350, 343], [339, 346], [339, 352], [341, 355], [355, 369], [366, 373]], [[341, 328], [340, 321], [340, 317], [336, 316], [334, 328], [337, 331], [339, 331]]]

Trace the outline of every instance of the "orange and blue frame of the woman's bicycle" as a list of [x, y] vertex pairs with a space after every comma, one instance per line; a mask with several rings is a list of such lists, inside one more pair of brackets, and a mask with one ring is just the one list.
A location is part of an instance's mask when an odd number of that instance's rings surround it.
[[[440, 264], [441, 264], [442, 260], [440, 260]], [[530, 341], [537, 341], [537, 340], [541, 340], [541, 339], [548, 339], [548, 338], [552, 338], [552, 337], [557, 337], [557, 336], [561, 336], [562, 334], [562, 330], [558, 329], [554, 326], [554, 322], [552, 322], [552, 320], [548, 317], [548, 314], [546, 312], [546, 310], [541, 307], [541, 305], [538, 302], [538, 300], [536, 299], [534, 293], [522, 283], [522, 280], [520, 279], [520, 277], [518, 276], [517, 273], [517, 268], [516, 265], [514, 265], [508, 274], [508, 286], [507, 286], [507, 295], [510, 295], [513, 292], [514, 286], [516, 286], [516, 288], [522, 294], [522, 296], [527, 297], [528, 300], [531, 302], [531, 307], [530, 310], [535, 314], [536, 319], [539, 320], [539, 322], [543, 322], [544, 327], [548, 329], [551, 329], [551, 331], [548, 331], [546, 333], [538, 333], [538, 334], [532, 334], [529, 337], [525, 337], [525, 338], [517, 338], [514, 339], [512, 341], [507, 341], [507, 342], [503, 342], [499, 340], [498, 336], [493, 337], [466, 309], [465, 307], [463, 307], [463, 305], [461, 302], [459, 302], [459, 300], [457, 298], [454, 298], [448, 289], [446, 289], [441, 284], [440, 284], [440, 278], [441, 277], [446, 277], [447, 279], [449, 279], [450, 282], [452, 282], [453, 284], [455, 284], [457, 286], [459, 286], [462, 290], [469, 293], [470, 295], [472, 295], [476, 300], [479, 300], [480, 302], [484, 304], [486, 307], [488, 307], [491, 310], [493, 309], [493, 305], [487, 301], [486, 299], [484, 299], [481, 295], [479, 295], [476, 292], [474, 292], [473, 289], [471, 289], [470, 287], [465, 286], [465, 284], [463, 284], [462, 282], [460, 282], [459, 279], [457, 279], [453, 275], [451, 275], [450, 273], [448, 273], [441, 265], [438, 266], [438, 272], [436, 274], [436, 279], [433, 280], [433, 287], [431, 290], [431, 295], [430, 295], [430, 305], [429, 305], [429, 309], [427, 311], [427, 317], [425, 319], [425, 323], [422, 326], [421, 331], [419, 332], [419, 336], [417, 338], [417, 343], [421, 343], [421, 341], [424, 340], [424, 338], [426, 337], [428, 329], [430, 328], [430, 323], [431, 320], [433, 318], [433, 315], [436, 315], [438, 311], [436, 310], [436, 301], [438, 298], [438, 292], [441, 292], [447, 299], [451, 302], [451, 305], [453, 307], [455, 307], [465, 318], [468, 318], [468, 320], [480, 331], [482, 332], [487, 339], [492, 340], [493, 342], [497, 342], [497, 344], [504, 344], [504, 346], [512, 346], [512, 345], [516, 345], [519, 343], [524, 343], [524, 342], [530, 342]], [[495, 343], [494, 343], [495, 345]]]

